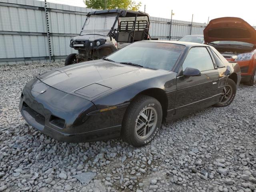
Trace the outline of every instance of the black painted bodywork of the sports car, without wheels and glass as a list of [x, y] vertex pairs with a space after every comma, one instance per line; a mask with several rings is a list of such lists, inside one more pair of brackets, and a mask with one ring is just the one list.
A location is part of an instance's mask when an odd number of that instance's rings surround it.
[[93, 60], [41, 74], [24, 87], [21, 114], [29, 124], [57, 140], [106, 140], [120, 136], [126, 109], [139, 94], [159, 98], [163, 121], [168, 122], [218, 102], [227, 78], [235, 76], [239, 84], [240, 67], [224, 58], [225, 67], [201, 72], [200, 76], [182, 75], [181, 64], [190, 48], [210, 46], [178, 44], [186, 48], [173, 71]]

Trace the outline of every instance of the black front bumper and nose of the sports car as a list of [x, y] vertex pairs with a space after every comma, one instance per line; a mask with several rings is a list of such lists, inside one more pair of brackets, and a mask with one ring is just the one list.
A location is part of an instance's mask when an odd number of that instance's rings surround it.
[[[52, 88], [37, 78], [24, 87], [19, 109], [28, 124], [64, 142], [89, 142], [120, 136], [120, 116], [115, 116], [112, 111], [88, 115], [96, 110], [92, 102]], [[124, 114], [124, 111], [117, 113]]]

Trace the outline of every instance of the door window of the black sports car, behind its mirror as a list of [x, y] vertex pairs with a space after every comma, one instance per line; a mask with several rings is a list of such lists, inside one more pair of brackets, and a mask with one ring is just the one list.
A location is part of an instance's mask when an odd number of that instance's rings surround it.
[[196, 68], [200, 71], [214, 69], [212, 58], [205, 47], [193, 47], [189, 50], [182, 64], [183, 71], [187, 67]]

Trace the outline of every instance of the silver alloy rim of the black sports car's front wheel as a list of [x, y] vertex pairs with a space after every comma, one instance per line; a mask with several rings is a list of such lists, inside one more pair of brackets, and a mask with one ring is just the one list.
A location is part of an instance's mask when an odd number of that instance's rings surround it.
[[153, 107], [140, 111], [135, 124], [136, 136], [145, 139], [152, 134], [157, 123], [157, 112]]

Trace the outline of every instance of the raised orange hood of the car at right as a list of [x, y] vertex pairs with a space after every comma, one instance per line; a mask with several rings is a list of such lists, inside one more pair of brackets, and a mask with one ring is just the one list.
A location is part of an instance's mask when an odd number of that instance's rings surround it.
[[256, 45], [256, 30], [241, 18], [216, 18], [204, 29], [204, 41], [240, 41]]

